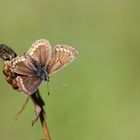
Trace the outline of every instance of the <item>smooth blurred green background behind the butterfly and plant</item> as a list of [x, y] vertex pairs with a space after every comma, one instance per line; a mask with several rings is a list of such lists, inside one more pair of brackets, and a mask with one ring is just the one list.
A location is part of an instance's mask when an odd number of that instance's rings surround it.
[[[140, 1], [1, 0], [0, 43], [17, 53], [37, 40], [75, 47], [78, 58], [40, 86], [52, 140], [140, 140]], [[14, 91], [0, 61], [0, 139], [38, 140], [30, 101]], [[63, 86], [61, 83], [67, 83]]]

